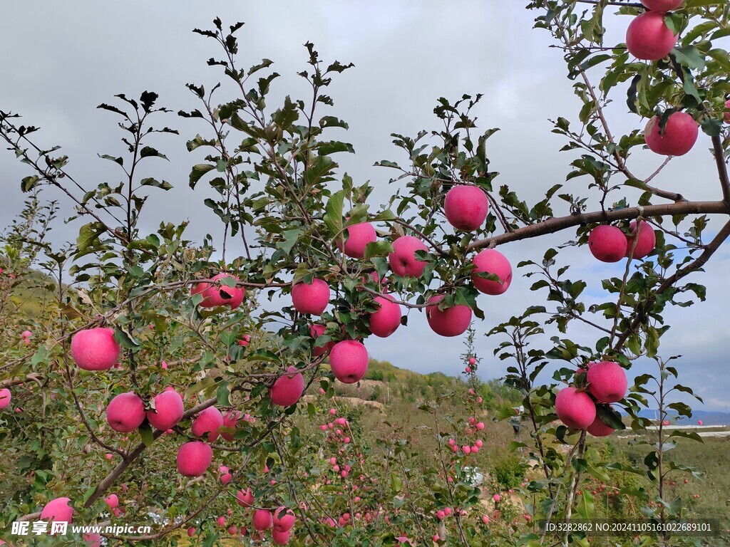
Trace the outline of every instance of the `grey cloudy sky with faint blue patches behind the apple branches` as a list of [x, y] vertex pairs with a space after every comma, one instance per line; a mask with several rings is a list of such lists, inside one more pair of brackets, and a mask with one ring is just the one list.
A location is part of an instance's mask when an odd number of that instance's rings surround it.
[[[96, 154], [120, 155], [120, 135], [112, 115], [96, 105], [111, 101], [116, 93], [139, 96], [154, 90], [161, 104], [175, 112], [196, 108], [185, 83], [207, 88], [215, 84], [219, 72], [205, 61], [218, 55], [218, 50], [210, 39], [191, 30], [211, 28], [212, 19], [220, 16], [224, 24], [247, 23], [239, 31], [243, 65], [264, 57], [274, 61], [274, 68], [283, 75], [274, 86], [274, 97], [304, 96], [301, 78], [295, 75], [306, 61], [304, 42], [314, 42], [325, 61], [355, 64], [331, 86], [335, 108], [328, 114], [350, 124], [343, 139], [353, 144], [357, 155], [340, 155], [342, 170], [352, 174], [356, 183], [372, 181], [373, 206], [390, 195], [392, 171], [372, 164], [382, 159], [404, 163], [391, 144], [390, 133], [415, 135], [420, 129], [436, 128], [432, 115], [436, 99], [456, 99], [464, 93], [485, 96], [477, 109], [481, 128], [502, 129], [488, 146], [492, 168], [502, 173], [497, 182], [510, 185], [534, 203], [550, 186], [564, 182], [571, 160], [558, 152], [564, 141], [550, 133], [548, 120], [558, 116], [575, 120], [580, 106], [572, 95], [572, 82], [564, 76], [560, 51], [549, 47], [544, 31], [531, 28], [535, 14], [524, 9], [525, 4], [520, 0], [12, 2], [4, 6], [0, 34], [4, 51], [0, 109], [22, 114], [26, 125], [40, 125], [41, 144], [61, 144], [72, 159], [69, 171], [80, 182], [88, 187], [116, 182], [118, 173], [112, 164]], [[623, 42], [628, 22], [609, 16], [607, 42]], [[618, 134], [645, 124], [626, 112], [621, 92], [608, 115]], [[204, 197], [200, 194], [207, 190], [201, 187], [193, 195], [187, 185], [190, 167], [200, 158], [185, 150], [185, 140], [204, 128], [174, 115], [164, 123], [181, 134], [158, 141], [171, 161], [158, 163], [155, 175], [176, 188], [152, 198], [155, 217], [148, 219], [145, 228], [153, 231], [160, 217], [174, 222], [189, 219], [188, 236], [199, 239], [212, 233], [218, 238], [217, 219], [199, 205]], [[691, 199], [718, 198], [719, 185], [707, 152], [710, 142], [702, 135], [700, 139], [693, 152], [672, 161], [656, 179], [657, 185]], [[650, 152], [637, 152], [634, 172], [650, 174], [659, 163]], [[12, 154], [0, 154], [0, 225], [7, 225], [19, 211], [23, 201], [19, 181], [27, 174]], [[584, 180], [574, 179], [566, 183], [566, 190], [580, 193], [583, 186]], [[629, 197], [635, 202], [637, 195]], [[69, 209], [65, 212], [68, 216]], [[75, 238], [75, 230], [77, 226], [59, 226], [54, 241]], [[516, 264], [542, 257], [547, 247], [573, 235], [568, 231], [548, 241], [534, 239], [501, 250]], [[621, 263], [596, 263], [587, 248], [562, 252], [561, 257], [572, 264], [572, 279], [588, 282], [590, 301], [602, 298], [601, 279], [623, 272]], [[693, 281], [707, 284], [708, 301], [691, 309], [670, 310], [666, 316], [673, 325], [672, 334], [661, 347], [666, 357], [683, 354], [679, 364], [680, 371], [687, 371], [683, 380], [705, 398], [705, 408], [720, 411], [727, 409], [730, 388], [723, 321], [728, 304], [723, 284], [729, 265], [726, 247], [704, 277], [694, 276]], [[542, 298], [529, 292], [530, 284], [516, 276], [507, 294], [482, 296], [480, 306], [487, 319], [477, 323], [477, 330], [485, 332]], [[593, 345], [595, 338], [580, 328], [571, 336], [586, 345]], [[491, 357], [498, 343], [481, 335], [477, 340], [477, 350], [485, 358], [480, 368], [484, 379], [501, 376], [506, 366]], [[422, 314], [412, 314], [407, 332], [369, 340], [368, 348], [377, 359], [416, 371], [455, 374], [461, 370], [461, 340], [432, 334]], [[635, 370], [648, 368], [648, 363], [637, 363]]]

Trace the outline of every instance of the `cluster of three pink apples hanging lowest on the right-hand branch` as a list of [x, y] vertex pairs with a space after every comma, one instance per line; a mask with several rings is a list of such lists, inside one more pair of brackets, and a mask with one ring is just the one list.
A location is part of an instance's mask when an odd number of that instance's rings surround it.
[[621, 365], [612, 361], [588, 363], [588, 371], [579, 368], [575, 373], [578, 383], [585, 376], [588, 387], [564, 387], [555, 400], [558, 418], [576, 430], [588, 430], [594, 437], [605, 437], [615, 430], [607, 426], [596, 414], [596, 404], [618, 403], [629, 387], [626, 372]]

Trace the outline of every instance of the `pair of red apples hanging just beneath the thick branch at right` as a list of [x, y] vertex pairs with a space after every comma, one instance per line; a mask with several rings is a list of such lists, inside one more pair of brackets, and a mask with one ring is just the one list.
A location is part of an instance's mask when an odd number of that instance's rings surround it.
[[[598, 260], [607, 263], [618, 262], [622, 258], [641, 259], [649, 255], [656, 247], [656, 233], [648, 222], [631, 222], [631, 236], [627, 236], [621, 228], [612, 225], [599, 225], [591, 230], [588, 236], [588, 249]], [[637, 239], [634, 244], [634, 239]]]

